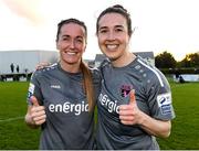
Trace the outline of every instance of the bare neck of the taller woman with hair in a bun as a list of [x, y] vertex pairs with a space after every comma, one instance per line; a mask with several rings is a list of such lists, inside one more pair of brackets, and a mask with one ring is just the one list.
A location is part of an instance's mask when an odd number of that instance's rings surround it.
[[119, 58], [112, 61], [112, 65], [114, 67], [124, 67], [124, 66], [127, 66], [128, 64], [130, 64], [135, 58], [136, 58], [136, 56], [133, 53], [127, 51]]

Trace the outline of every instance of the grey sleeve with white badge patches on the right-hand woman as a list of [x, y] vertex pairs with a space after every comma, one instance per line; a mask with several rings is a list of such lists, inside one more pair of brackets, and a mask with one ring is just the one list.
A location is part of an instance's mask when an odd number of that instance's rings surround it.
[[175, 118], [170, 86], [166, 77], [157, 72], [158, 76], [154, 75], [151, 84], [147, 86], [150, 116], [160, 120], [170, 120]]

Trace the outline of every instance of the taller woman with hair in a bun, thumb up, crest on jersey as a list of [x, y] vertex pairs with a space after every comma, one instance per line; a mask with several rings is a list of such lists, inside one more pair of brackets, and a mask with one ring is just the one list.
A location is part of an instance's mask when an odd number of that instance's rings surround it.
[[155, 137], [170, 134], [175, 114], [169, 84], [160, 71], [129, 51], [132, 33], [130, 17], [119, 4], [97, 18], [98, 45], [108, 58], [101, 65], [97, 149], [158, 150]]

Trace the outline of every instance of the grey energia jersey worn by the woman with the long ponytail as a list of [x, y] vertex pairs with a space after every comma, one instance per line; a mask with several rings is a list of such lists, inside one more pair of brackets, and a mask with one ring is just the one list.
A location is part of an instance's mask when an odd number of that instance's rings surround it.
[[[100, 74], [92, 71], [95, 88]], [[60, 64], [36, 71], [29, 87], [29, 98], [34, 95], [45, 107], [46, 122], [42, 125], [41, 150], [90, 150], [94, 148], [94, 114], [83, 89], [83, 75], [67, 73]]]

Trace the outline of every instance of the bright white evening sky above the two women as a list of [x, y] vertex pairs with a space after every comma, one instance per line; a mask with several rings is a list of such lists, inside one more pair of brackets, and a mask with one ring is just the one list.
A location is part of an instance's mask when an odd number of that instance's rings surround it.
[[123, 4], [135, 32], [132, 52], [167, 51], [177, 61], [199, 52], [198, 0], [0, 0], [0, 51], [55, 48], [57, 23], [67, 18], [85, 22], [88, 41], [84, 58], [101, 53], [95, 35], [98, 14]]

